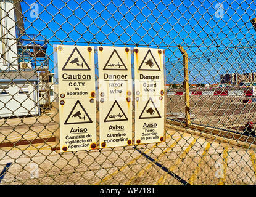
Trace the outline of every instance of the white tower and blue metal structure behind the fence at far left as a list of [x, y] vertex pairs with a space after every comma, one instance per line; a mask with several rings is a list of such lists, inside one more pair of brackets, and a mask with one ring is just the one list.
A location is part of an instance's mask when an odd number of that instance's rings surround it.
[[[38, 92], [36, 97], [39, 96], [39, 98], [31, 99], [31, 102], [35, 102], [32, 106], [37, 108], [34, 110], [35, 115], [39, 115], [38, 111], [51, 109], [46, 37], [25, 34], [20, 1], [1, 1], [0, 6], [0, 54], [2, 54], [2, 58], [0, 58], [0, 71], [3, 73], [2, 76], [4, 76], [0, 80], [7, 82], [12, 79], [15, 81], [15, 78], [17, 78], [19, 79], [19, 86], [27, 87], [30, 85], [22, 79], [25, 79], [24, 75], [26, 77], [29, 76], [27, 78], [28, 83], [35, 83], [33, 88]], [[9, 87], [9, 85], [7, 83], [3, 86]], [[14, 89], [9, 92], [5, 92], [5, 90], [6, 88], [2, 89], [2, 94], [9, 95], [10, 97], [17, 93]], [[19, 95], [18, 93], [17, 97]], [[18, 100], [20, 99], [18, 98]], [[17, 111], [12, 109], [14, 106], [10, 105], [9, 110]], [[25, 109], [29, 109], [29, 107]], [[3, 109], [2, 111], [6, 110]], [[0, 111], [0, 116], [12, 115], [12, 113], [2, 111]], [[24, 109], [22, 111], [22, 115], [25, 115]], [[31, 111], [27, 110], [27, 115], [29, 114], [31, 114]]]

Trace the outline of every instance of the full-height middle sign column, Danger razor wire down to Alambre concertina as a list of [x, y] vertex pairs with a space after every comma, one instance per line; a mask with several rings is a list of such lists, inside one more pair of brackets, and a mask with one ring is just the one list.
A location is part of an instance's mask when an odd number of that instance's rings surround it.
[[100, 147], [131, 145], [131, 51], [126, 47], [98, 47]]

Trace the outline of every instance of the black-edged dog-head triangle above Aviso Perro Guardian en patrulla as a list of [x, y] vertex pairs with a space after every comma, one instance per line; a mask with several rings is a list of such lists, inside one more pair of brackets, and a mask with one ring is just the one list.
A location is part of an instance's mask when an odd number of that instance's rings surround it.
[[139, 119], [151, 119], [151, 118], [161, 118], [161, 115], [157, 108], [155, 107], [152, 98], [149, 98], [145, 107], [143, 108], [141, 115], [139, 115]]

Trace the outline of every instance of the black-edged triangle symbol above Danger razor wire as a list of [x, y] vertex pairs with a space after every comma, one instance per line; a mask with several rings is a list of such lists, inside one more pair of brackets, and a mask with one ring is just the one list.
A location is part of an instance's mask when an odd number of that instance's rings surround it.
[[123, 63], [122, 58], [120, 58], [117, 53], [117, 50], [113, 50], [103, 70], [127, 70], [125, 63]]

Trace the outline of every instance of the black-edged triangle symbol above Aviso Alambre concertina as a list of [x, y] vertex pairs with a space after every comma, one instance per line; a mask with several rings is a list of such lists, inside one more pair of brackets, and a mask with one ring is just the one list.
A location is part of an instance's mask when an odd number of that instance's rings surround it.
[[114, 121], [128, 121], [127, 116], [125, 115], [125, 113], [123, 112], [122, 108], [116, 100], [110, 108], [109, 113], [107, 113], [107, 116], [105, 116], [104, 119], [104, 122]]

